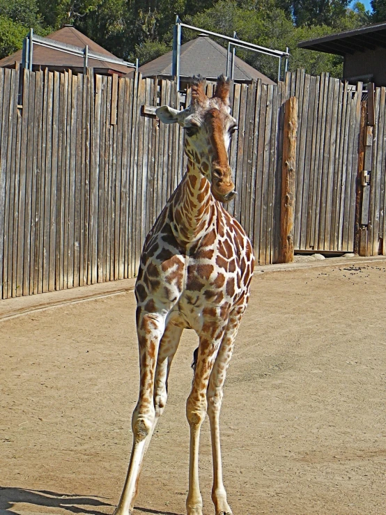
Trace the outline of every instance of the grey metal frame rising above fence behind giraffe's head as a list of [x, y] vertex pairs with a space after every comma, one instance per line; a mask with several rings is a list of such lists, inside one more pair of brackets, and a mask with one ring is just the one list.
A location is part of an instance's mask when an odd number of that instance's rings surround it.
[[279, 58], [279, 72], [278, 72], [278, 81], [280, 80], [280, 70], [281, 70], [281, 59], [284, 58], [285, 61], [285, 70], [288, 70], [288, 57], [290, 54], [288, 53], [288, 47], [286, 47], [286, 52], [281, 52], [281, 50], [275, 50], [272, 48], [261, 47], [260, 45], [255, 45], [254, 43], [249, 43], [248, 41], [243, 41], [237, 38], [236, 32], [233, 32], [233, 38], [229, 36], [224, 36], [223, 34], [219, 34], [217, 32], [206, 31], [204, 29], [199, 29], [199, 27], [187, 25], [181, 22], [180, 18], [176, 16], [176, 24], [173, 27], [173, 64], [172, 64], [172, 75], [176, 77], [177, 82], [177, 91], [180, 89], [180, 47], [181, 47], [181, 28], [185, 27], [186, 29], [190, 29], [192, 31], [196, 31], [203, 34], [208, 34], [208, 36], [215, 36], [216, 38], [221, 38], [229, 42], [228, 45], [228, 59], [226, 61], [226, 75], [229, 75], [229, 54], [231, 52], [231, 46], [233, 46], [232, 51], [232, 67], [231, 67], [231, 79], [233, 79], [233, 70], [234, 70], [234, 62], [235, 62], [235, 47], [245, 48], [247, 50], [252, 50], [253, 52], [259, 52], [261, 54], [266, 54], [272, 57]]

